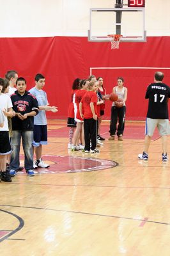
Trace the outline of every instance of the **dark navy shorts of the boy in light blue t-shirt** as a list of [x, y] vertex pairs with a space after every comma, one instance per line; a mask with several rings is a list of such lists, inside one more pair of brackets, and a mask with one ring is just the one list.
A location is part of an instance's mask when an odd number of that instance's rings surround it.
[[34, 125], [33, 146], [47, 145], [47, 125]]

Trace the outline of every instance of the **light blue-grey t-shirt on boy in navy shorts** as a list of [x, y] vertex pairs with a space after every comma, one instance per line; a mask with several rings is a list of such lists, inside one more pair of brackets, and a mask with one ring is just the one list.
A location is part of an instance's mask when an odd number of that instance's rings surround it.
[[[31, 90], [29, 90], [29, 92], [36, 97], [38, 101], [38, 106], [45, 106], [49, 104], [47, 100], [47, 93], [44, 92], [43, 90], [38, 90], [35, 87], [33, 87], [31, 88]], [[40, 110], [38, 115], [34, 116], [34, 124], [47, 125], [47, 117], [45, 114], [45, 110]]]

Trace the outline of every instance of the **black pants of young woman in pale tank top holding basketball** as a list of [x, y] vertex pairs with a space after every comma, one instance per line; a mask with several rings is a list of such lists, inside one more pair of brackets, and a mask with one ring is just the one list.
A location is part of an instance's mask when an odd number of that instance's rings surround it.
[[[117, 130], [117, 135], [123, 135], [123, 131], [125, 129], [125, 113], [126, 113], [126, 106], [121, 108], [117, 108], [112, 106], [111, 108], [111, 124], [110, 124], [110, 134], [115, 135]], [[118, 123], [118, 129], [117, 127]]]

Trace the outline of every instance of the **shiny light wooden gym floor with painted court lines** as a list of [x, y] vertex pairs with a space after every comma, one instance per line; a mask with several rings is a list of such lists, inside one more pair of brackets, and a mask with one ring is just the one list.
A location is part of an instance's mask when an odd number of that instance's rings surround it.
[[[123, 141], [88, 155], [67, 149], [65, 121], [48, 127], [50, 168], [0, 183], [0, 255], [169, 256], [170, 168], [157, 132], [141, 161], [142, 122], [126, 122]], [[103, 122], [105, 138], [108, 129]]]

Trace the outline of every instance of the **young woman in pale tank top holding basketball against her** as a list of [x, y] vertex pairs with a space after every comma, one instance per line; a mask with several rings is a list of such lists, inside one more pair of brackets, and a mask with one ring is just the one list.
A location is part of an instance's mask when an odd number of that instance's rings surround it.
[[[126, 100], [127, 88], [123, 86], [123, 77], [118, 77], [118, 86], [112, 88], [112, 92], [118, 95], [118, 101], [112, 102], [111, 108], [111, 124], [110, 124], [110, 138], [114, 140], [117, 134], [118, 140], [123, 140], [123, 131], [125, 129], [125, 113], [126, 113]], [[118, 123], [118, 127], [117, 127]]]

